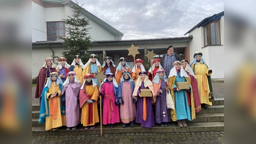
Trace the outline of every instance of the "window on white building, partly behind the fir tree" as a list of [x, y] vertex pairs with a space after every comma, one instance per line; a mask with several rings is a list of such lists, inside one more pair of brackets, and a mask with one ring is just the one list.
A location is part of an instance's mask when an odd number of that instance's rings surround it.
[[47, 22], [47, 41], [59, 41], [65, 36], [64, 22]]

